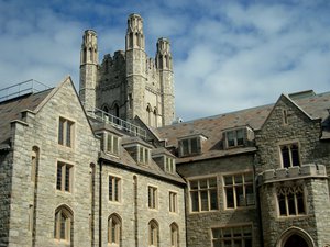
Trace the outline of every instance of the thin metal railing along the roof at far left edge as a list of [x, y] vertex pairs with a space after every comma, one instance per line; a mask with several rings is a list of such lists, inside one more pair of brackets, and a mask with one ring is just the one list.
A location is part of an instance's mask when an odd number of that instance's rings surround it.
[[0, 102], [10, 100], [20, 96], [24, 96], [28, 93], [35, 93], [40, 91], [44, 91], [46, 89], [50, 89], [47, 85], [44, 85], [37, 80], [30, 79], [22, 81], [20, 83], [0, 89]]

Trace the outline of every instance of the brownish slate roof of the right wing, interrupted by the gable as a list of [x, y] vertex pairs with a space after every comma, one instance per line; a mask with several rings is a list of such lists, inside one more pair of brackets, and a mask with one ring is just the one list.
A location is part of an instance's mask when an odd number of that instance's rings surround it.
[[[323, 123], [327, 120], [330, 122], [328, 112], [328, 109], [330, 108], [330, 92], [305, 96], [293, 101], [312, 119], [320, 117]], [[275, 104], [262, 105], [189, 122], [177, 123], [156, 128], [156, 132], [161, 138], [167, 139], [167, 146], [175, 147], [178, 146], [177, 139], [183, 136], [202, 134], [207, 137], [207, 141], [202, 143], [202, 150], [200, 155], [178, 158], [178, 164], [254, 151], [255, 147], [232, 148], [227, 150], [221, 148], [223, 130], [246, 125], [253, 130], [260, 130], [274, 105]], [[328, 132], [323, 132], [323, 135], [327, 136]]]

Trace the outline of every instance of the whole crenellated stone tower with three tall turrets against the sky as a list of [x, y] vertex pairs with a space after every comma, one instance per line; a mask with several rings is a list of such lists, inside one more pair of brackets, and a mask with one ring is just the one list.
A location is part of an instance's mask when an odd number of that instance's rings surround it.
[[175, 119], [175, 105], [169, 41], [160, 38], [155, 59], [147, 57], [143, 19], [131, 14], [125, 52], [107, 54], [98, 65], [97, 48], [92, 49], [96, 50], [92, 63], [85, 61], [86, 56], [87, 59], [90, 56], [88, 35], [94, 35], [94, 47], [97, 47], [96, 33], [86, 31], [81, 46], [81, 101], [127, 121], [138, 115], [152, 127], [170, 124]]

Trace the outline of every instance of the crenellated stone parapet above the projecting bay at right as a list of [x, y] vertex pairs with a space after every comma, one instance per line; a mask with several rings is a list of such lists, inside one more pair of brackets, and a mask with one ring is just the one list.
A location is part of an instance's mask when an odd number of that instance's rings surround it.
[[326, 166], [307, 164], [301, 167], [289, 167], [265, 170], [258, 175], [258, 184], [304, 178], [327, 178]]

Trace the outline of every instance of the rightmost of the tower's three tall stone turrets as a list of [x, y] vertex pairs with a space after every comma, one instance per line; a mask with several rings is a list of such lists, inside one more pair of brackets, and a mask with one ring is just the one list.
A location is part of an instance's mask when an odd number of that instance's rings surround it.
[[162, 125], [172, 124], [174, 113], [174, 80], [170, 44], [167, 38], [161, 37], [157, 42], [156, 66], [160, 70], [162, 97]]

